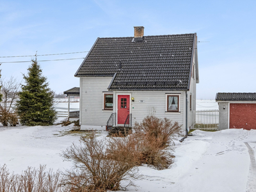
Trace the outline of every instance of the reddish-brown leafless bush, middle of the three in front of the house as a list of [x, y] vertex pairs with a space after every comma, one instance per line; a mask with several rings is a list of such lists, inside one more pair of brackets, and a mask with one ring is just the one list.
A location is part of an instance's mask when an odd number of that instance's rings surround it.
[[150, 164], [163, 170], [173, 163], [170, 150], [161, 147], [161, 141], [147, 134], [119, 135], [109, 140], [108, 156], [116, 161], [124, 161], [138, 166]]

